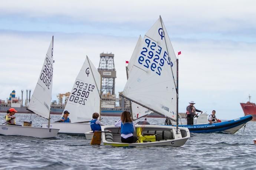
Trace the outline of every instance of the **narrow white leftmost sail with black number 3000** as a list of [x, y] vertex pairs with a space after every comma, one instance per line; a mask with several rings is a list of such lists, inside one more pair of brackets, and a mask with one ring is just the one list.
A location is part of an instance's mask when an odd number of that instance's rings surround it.
[[49, 119], [50, 103], [52, 99], [53, 79], [53, 37], [45, 56], [43, 68], [40, 72], [36, 88], [30, 99], [28, 109], [45, 119]]

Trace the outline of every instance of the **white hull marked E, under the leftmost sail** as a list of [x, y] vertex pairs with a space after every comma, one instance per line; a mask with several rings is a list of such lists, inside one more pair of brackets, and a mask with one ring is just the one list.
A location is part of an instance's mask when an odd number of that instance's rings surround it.
[[18, 135], [38, 138], [56, 137], [60, 129], [29, 126], [0, 125], [0, 135]]

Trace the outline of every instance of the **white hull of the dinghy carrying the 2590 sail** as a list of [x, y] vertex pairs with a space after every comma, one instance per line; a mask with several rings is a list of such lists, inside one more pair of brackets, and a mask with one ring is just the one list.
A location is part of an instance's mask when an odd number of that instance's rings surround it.
[[[48, 123], [42, 123], [43, 128], [48, 128]], [[50, 128], [60, 129], [59, 133], [63, 133], [70, 136], [85, 136], [85, 132], [91, 130], [89, 123], [63, 123], [52, 122]]]

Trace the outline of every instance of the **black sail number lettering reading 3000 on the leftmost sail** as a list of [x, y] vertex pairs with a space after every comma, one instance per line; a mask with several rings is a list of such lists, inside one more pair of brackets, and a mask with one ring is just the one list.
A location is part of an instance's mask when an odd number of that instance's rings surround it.
[[48, 57], [46, 57], [45, 60], [46, 64], [43, 66], [42, 73], [40, 75], [40, 80], [42, 80], [46, 87], [50, 89], [53, 75], [53, 67]]

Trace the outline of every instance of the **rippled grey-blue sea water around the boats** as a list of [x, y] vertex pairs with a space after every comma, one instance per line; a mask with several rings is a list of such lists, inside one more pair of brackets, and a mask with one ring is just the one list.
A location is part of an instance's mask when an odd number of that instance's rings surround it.
[[[71, 113], [72, 114], [72, 113]], [[0, 122], [4, 123], [4, 113]], [[32, 120], [41, 126], [45, 119], [17, 113], [16, 124]], [[52, 121], [60, 115], [52, 115]], [[113, 125], [118, 117], [103, 117]], [[163, 124], [162, 118], [148, 118], [151, 124]], [[24, 136], [0, 136], [0, 169], [256, 169], [256, 122], [248, 122], [235, 134], [191, 133], [181, 147], [92, 146], [85, 137], [57, 135], [51, 139]]]

